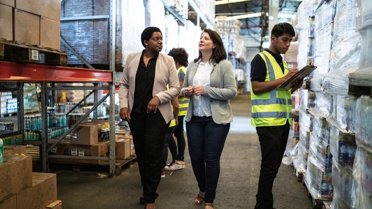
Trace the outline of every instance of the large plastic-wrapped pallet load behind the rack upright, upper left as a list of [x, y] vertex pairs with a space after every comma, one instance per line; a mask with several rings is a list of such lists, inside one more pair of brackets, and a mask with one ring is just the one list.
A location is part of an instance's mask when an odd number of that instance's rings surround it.
[[[109, 15], [110, 1], [64, 0], [61, 17]], [[136, 9], [132, 9], [136, 8]], [[143, 49], [141, 33], [145, 28], [142, 1], [116, 1], [116, 64], [125, 64], [129, 53]], [[109, 19], [69, 20], [61, 22], [61, 36], [90, 64], [109, 64]], [[83, 64], [64, 44], [68, 64]]]

